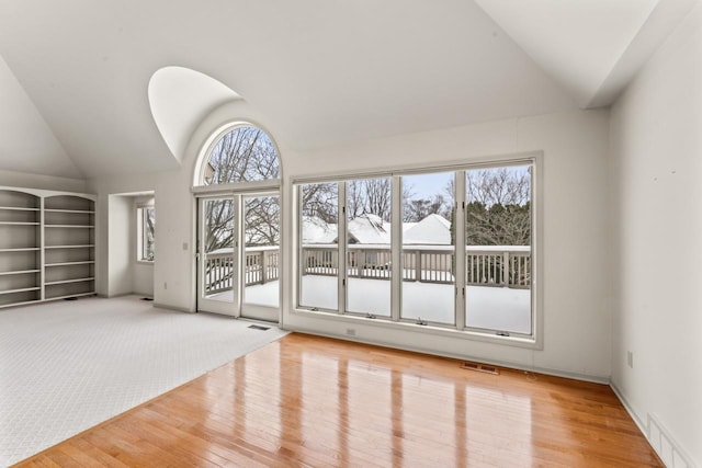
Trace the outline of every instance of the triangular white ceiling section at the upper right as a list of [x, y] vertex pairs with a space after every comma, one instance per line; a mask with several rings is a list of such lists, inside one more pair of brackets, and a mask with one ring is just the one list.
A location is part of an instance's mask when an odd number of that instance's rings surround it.
[[595, 107], [612, 102], [695, 0], [475, 2], [581, 107]]

